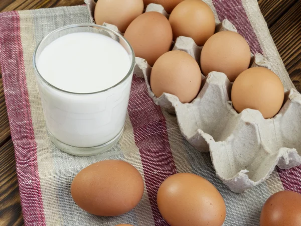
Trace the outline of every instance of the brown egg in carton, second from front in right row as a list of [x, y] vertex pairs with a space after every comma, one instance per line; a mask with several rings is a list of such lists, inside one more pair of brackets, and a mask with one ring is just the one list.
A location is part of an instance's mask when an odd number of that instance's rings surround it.
[[222, 31], [211, 36], [201, 52], [201, 69], [205, 76], [223, 72], [230, 81], [248, 69], [251, 52], [247, 41], [236, 32]]

